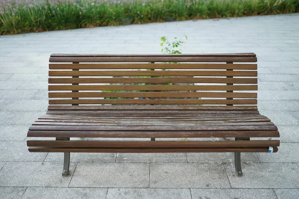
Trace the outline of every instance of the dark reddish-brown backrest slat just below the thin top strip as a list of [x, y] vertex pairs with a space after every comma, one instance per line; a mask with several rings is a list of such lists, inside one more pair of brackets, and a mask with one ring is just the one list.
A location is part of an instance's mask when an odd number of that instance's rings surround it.
[[49, 62], [257, 62], [256, 57], [50, 57]]

